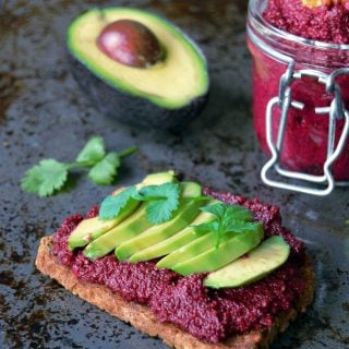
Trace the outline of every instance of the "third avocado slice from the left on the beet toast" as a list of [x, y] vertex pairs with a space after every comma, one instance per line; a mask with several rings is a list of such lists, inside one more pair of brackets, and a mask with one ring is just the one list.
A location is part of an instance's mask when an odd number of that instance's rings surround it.
[[[160, 225], [156, 225], [147, 229], [136, 238], [123, 242], [116, 250], [116, 254], [120, 261], [124, 261], [132, 254], [173, 236], [174, 233], [186, 227], [189, 224], [191, 224], [192, 220], [200, 214], [200, 207], [204, 203], [206, 203], [206, 201], [193, 201], [185, 197], [201, 196], [201, 185], [194, 182], [183, 182], [182, 188], [182, 202], [176, 213], [176, 216], [171, 220]], [[130, 262], [137, 262], [137, 258], [131, 256]]]

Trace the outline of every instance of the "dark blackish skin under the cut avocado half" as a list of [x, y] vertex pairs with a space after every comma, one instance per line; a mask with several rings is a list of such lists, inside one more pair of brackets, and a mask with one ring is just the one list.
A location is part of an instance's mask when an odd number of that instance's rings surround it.
[[103, 115], [122, 123], [179, 132], [201, 113], [208, 99], [209, 88], [205, 95], [194, 98], [182, 108], [161, 108], [147, 99], [125, 94], [110, 86], [70, 53], [69, 62], [74, 79], [93, 106]]

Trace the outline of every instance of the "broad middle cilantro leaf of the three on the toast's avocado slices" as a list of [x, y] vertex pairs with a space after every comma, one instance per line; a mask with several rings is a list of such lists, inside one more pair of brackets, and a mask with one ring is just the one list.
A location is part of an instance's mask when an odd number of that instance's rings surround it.
[[164, 183], [160, 185], [144, 186], [139, 194], [148, 201], [145, 210], [147, 218], [155, 225], [172, 218], [179, 206], [180, 185], [178, 183]]

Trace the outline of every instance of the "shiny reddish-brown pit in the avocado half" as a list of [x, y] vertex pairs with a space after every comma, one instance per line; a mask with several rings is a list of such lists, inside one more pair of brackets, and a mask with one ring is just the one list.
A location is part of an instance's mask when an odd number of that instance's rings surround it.
[[112, 60], [133, 68], [147, 69], [163, 58], [163, 49], [153, 32], [132, 20], [108, 24], [99, 34], [97, 46]]

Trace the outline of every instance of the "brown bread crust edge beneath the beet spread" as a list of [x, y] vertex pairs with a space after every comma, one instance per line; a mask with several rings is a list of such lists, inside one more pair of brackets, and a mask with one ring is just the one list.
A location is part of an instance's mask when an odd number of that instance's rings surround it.
[[106, 286], [79, 280], [69, 267], [60, 264], [58, 258], [51, 254], [52, 246], [52, 236], [41, 239], [35, 264], [43, 274], [56, 279], [75, 296], [130, 323], [133, 327], [149, 336], [161, 338], [168, 346], [177, 349], [268, 348], [277, 334], [284, 332], [289, 323], [297, 317], [298, 313], [305, 312], [314, 294], [314, 273], [310, 257], [306, 256], [304, 266], [302, 267], [305, 290], [294, 308], [288, 312], [280, 313], [268, 329], [252, 330], [243, 335], [232, 336], [220, 344], [208, 344], [179, 329], [172, 324], [158, 322], [156, 315], [148, 306], [128, 302]]

